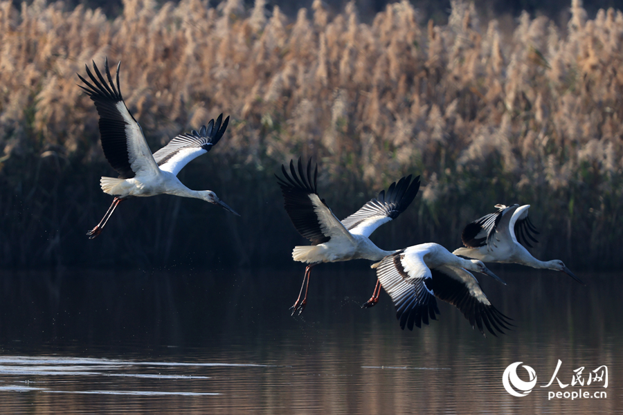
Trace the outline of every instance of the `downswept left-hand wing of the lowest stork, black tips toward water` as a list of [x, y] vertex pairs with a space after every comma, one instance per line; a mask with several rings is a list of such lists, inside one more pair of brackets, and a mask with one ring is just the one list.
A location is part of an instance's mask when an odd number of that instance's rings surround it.
[[383, 289], [392, 297], [400, 327], [428, 324], [428, 317], [437, 320], [439, 314], [435, 295], [426, 287], [430, 270], [422, 258], [405, 255], [404, 251], [385, 257], [377, 266], [377, 277]]

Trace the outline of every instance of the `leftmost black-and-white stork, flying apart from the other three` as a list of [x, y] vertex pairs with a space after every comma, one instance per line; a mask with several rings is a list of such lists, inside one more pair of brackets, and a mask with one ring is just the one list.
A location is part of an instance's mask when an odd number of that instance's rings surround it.
[[215, 192], [190, 190], [177, 178], [179, 171], [190, 160], [206, 154], [221, 139], [227, 129], [229, 117], [222, 122], [223, 114], [221, 114], [216, 123], [210, 120], [208, 127], [203, 126], [199, 131], [192, 130], [191, 133], [183, 133], [152, 154], [141, 126], [129, 112], [121, 96], [120, 65], [121, 62], [117, 65], [116, 85], [110, 75], [108, 59], [104, 62], [104, 73], [107, 79], [102, 76], [95, 62], [93, 62], [93, 71], [97, 77], [93, 76], [87, 66], [87, 75], [91, 82], [78, 74], [80, 80], [86, 85], [80, 85], [80, 88], [84, 89], [89, 98], [95, 102], [100, 115], [99, 127], [104, 155], [119, 174], [118, 178], [102, 177], [100, 180], [102, 190], [115, 196], [115, 199], [100, 223], [87, 232], [89, 239], [97, 237], [102, 232], [117, 205], [129, 196], [173, 194], [191, 197], [220, 205], [238, 215], [221, 201]]

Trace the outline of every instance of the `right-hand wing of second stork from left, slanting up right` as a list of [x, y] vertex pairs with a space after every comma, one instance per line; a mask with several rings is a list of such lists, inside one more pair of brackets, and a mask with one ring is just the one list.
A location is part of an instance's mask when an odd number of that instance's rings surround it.
[[343, 219], [342, 224], [353, 234], [370, 237], [380, 225], [396, 219], [415, 199], [419, 190], [419, 176], [413, 182], [411, 175], [390, 185], [387, 192], [381, 190], [379, 196], [365, 203], [361, 209]]

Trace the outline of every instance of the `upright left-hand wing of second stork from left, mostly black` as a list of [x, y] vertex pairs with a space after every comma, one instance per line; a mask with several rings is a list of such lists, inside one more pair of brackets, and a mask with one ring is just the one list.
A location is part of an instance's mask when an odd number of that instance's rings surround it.
[[305, 172], [299, 158], [298, 175], [292, 160], [290, 174], [284, 165], [281, 166], [281, 170], [285, 178], [277, 176], [277, 180], [283, 194], [284, 207], [298, 233], [309, 239], [312, 245], [336, 238], [355, 243], [350, 232], [335, 217], [325, 201], [318, 197], [318, 166], [312, 176], [311, 160]]

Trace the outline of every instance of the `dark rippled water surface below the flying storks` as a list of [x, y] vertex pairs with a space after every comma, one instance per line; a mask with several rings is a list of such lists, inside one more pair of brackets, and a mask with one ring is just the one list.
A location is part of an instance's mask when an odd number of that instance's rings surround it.
[[[363, 264], [363, 263], [362, 263]], [[365, 264], [364, 264], [365, 265]], [[257, 272], [0, 273], [0, 413], [11, 414], [583, 414], [623, 412], [623, 290], [617, 273], [478, 276], [507, 335], [483, 338], [458, 310], [399, 328], [387, 295], [370, 309], [365, 266]], [[584, 386], [570, 384], [584, 367]], [[523, 362], [536, 387], [511, 396], [505, 368]], [[604, 382], [587, 385], [606, 365]], [[519, 367], [517, 374], [529, 380]], [[591, 375], [592, 376], [592, 375]], [[605, 391], [603, 398], [549, 392]]]

